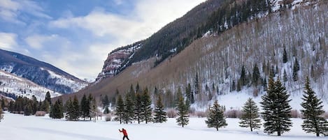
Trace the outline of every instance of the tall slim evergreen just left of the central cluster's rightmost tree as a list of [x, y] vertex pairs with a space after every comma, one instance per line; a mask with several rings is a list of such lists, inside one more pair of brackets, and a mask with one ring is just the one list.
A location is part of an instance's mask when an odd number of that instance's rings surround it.
[[141, 97], [141, 109], [143, 110], [143, 119], [145, 120], [145, 123], [152, 121], [152, 107], [150, 105], [152, 104], [152, 100], [150, 100], [150, 96], [148, 94], [148, 89], [145, 88], [143, 90], [143, 95]]

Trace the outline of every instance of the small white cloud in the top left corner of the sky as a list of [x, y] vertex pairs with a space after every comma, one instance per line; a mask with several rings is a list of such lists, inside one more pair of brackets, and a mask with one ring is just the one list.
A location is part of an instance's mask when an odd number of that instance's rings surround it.
[[0, 18], [6, 22], [15, 24], [24, 24], [18, 19], [20, 13], [28, 13], [36, 17], [51, 19], [52, 17], [46, 15], [38, 4], [34, 1], [28, 0], [1, 0], [0, 1]]

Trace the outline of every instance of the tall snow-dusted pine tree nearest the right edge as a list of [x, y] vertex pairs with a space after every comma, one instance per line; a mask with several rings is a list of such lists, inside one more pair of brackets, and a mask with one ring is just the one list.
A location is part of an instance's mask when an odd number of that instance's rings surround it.
[[302, 100], [301, 106], [304, 108], [301, 109], [304, 115], [304, 121], [301, 125], [302, 129], [307, 133], [315, 133], [317, 137], [319, 137], [320, 134], [325, 134], [325, 132], [328, 131], [328, 122], [321, 116], [325, 114], [325, 111], [322, 109], [322, 101], [312, 90], [308, 77], [306, 77]]

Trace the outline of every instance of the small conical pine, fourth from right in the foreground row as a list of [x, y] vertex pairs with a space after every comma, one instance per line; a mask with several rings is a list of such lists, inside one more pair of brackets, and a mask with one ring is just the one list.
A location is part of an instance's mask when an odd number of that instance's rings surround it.
[[214, 127], [217, 131], [219, 130], [219, 127], [228, 125], [225, 121], [223, 110], [218, 103], [218, 100], [215, 100], [213, 107], [210, 107], [205, 123], [207, 124], [207, 127]]

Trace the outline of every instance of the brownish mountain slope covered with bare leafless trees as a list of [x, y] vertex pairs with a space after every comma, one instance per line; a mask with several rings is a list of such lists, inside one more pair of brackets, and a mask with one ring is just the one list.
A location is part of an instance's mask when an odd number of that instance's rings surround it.
[[[201, 94], [195, 95], [198, 107], [207, 107], [210, 94], [212, 99], [229, 104], [227, 107], [235, 107], [232, 102], [234, 99], [224, 97], [255, 96], [259, 101], [259, 96], [265, 93], [261, 84], [255, 86], [250, 80], [245, 86], [239, 85], [240, 91], [232, 88], [238, 85], [243, 65], [247, 79], [252, 79], [252, 70], [257, 64], [261, 81], [268, 79], [271, 70], [276, 73], [276, 78], [282, 80], [286, 73], [287, 80], [284, 83], [292, 94], [295, 109], [299, 109], [306, 76], [311, 77], [313, 88], [327, 104], [328, 3], [306, 3], [292, 9], [276, 9], [274, 13], [238, 24], [220, 34], [208, 33], [155, 68], [153, 64], [157, 58], [134, 63], [119, 75], [88, 86], [77, 95], [93, 93], [98, 98], [101, 95], [114, 97], [116, 89], [120, 93], [127, 93], [129, 86], [136, 86], [136, 83], [147, 86], [150, 93], [154, 92], [156, 86], [159, 93], [166, 95], [169, 91], [176, 93], [179, 87], [184, 89], [189, 83], [194, 88], [195, 75], [198, 73], [201, 83]], [[283, 63], [284, 48], [287, 51], [287, 63]], [[293, 65], [296, 59], [300, 70], [297, 73], [299, 79], [294, 81]]]

